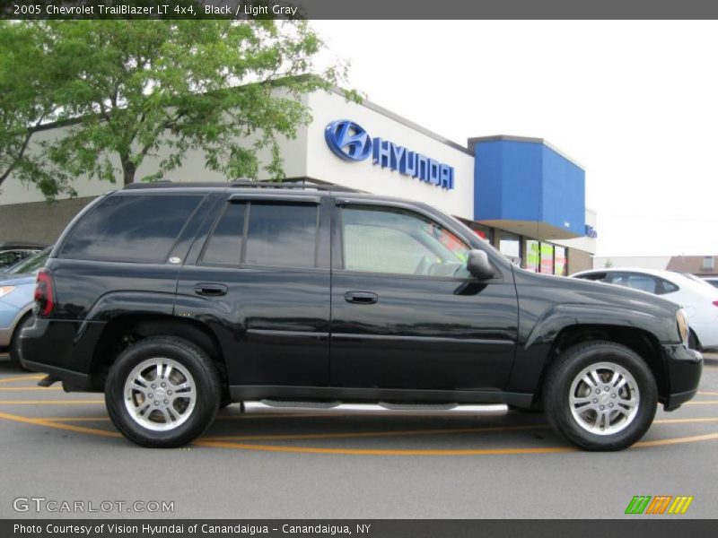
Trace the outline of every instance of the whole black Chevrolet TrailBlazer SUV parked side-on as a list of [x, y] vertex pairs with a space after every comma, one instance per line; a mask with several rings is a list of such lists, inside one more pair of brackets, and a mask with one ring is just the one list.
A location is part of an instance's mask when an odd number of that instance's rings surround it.
[[132, 185], [70, 223], [39, 273], [30, 369], [105, 393], [146, 447], [217, 410], [543, 409], [575, 445], [641, 438], [696, 394], [667, 300], [523, 271], [425, 204], [337, 186]]

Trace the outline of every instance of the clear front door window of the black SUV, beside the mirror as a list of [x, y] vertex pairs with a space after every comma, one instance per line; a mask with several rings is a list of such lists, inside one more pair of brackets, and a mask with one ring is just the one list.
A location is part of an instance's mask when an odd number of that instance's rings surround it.
[[423, 215], [350, 206], [342, 210], [342, 225], [347, 271], [469, 277], [469, 247]]

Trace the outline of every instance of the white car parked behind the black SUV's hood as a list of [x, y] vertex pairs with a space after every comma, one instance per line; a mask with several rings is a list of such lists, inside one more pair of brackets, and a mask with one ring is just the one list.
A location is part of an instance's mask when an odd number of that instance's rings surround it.
[[660, 295], [663, 299], [668, 299], [686, 310], [688, 325], [690, 325], [691, 348], [696, 350], [718, 348], [718, 289], [707, 282], [700, 282], [693, 275], [652, 269], [611, 267], [582, 271], [572, 274], [571, 277], [617, 284]]

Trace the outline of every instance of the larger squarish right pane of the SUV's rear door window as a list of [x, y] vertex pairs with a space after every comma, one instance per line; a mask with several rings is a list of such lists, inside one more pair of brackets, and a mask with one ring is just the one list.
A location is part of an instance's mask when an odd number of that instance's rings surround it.
[[250, 204], [244, 263], [314, 267], [317, 205]]

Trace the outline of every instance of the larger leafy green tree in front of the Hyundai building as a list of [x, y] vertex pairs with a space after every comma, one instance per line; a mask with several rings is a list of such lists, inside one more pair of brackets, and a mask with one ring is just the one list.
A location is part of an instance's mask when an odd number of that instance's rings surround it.
[[[226, 178], [257, 178], [258, 152], [267, 149], [265, 168], [281, 177], [278, 137], [295, 136], [311, 120], [299, 97], [346, 73], [343, 64], [317, 72], [323, 45], [302, 21], [43, 24], [50, 55], [73, 74], [59, 102], [75, 118], [43, 148], [70, 177], [152, 180], [191, 149]], [[136, 178], [161, 149], [157, 169]]]

